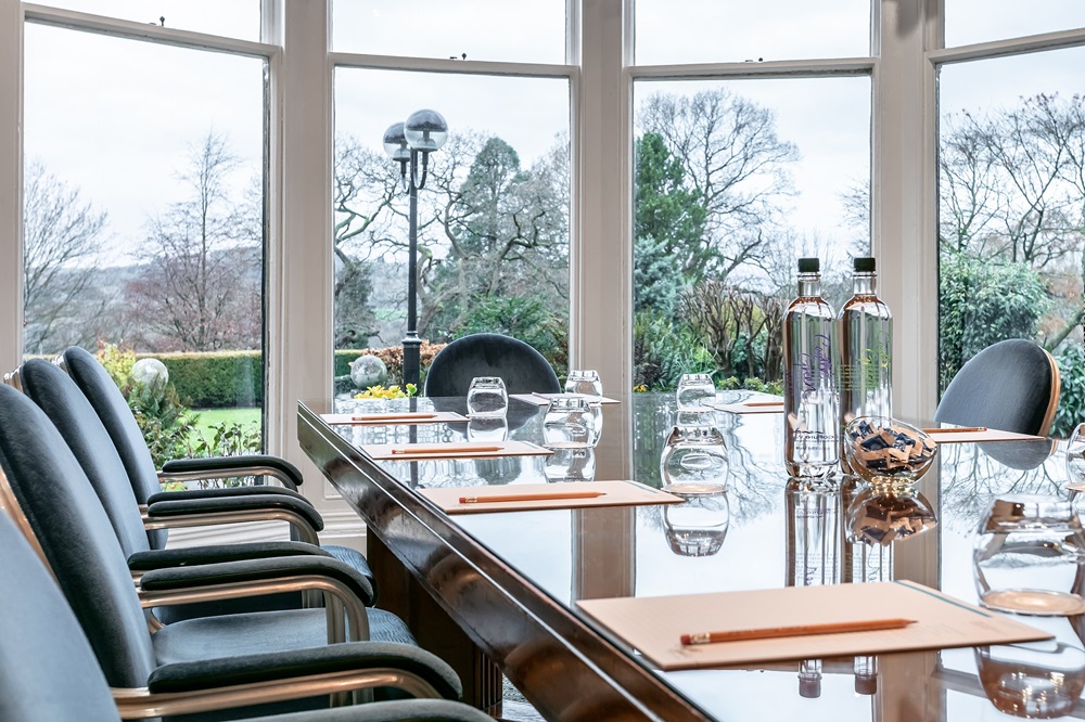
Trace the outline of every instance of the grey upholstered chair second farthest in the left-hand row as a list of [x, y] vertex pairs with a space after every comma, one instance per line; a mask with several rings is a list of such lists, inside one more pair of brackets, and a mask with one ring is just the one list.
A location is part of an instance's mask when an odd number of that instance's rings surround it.
[[[204, 525], [230, 524], [239, 518], [279, 518], [291, 520], [315, 541], [316, 532], [312, 529], [319, 527], [320, 517], [299, 494], [282, 489], [281, 493], [263, 497], [155, 502], [149, 507], [145, 521], [108, 431], [76, 383], [60, 368], [42, 359], [30, 359], [24, 363], [20, 368], [18, 377], [23, 392], [46, 412], [87, 474], [133, 573], [140, 575], [156, 568], [241, 559], [296, 555], [331, 557], [331, 554], [315, 544], [290, 541], [179, 550], [152, 549], [146, 523], [152, 526], [190, 524], [193, 516], [197, 516], [197, 520]], [[162, 507], [166, 508], [165, 513], [159, 512]], [[367, 579], [362, 578], [362, 581], [368, 584]], [[366, 588], [362, 592], [366, 594], [362, 601], [371, 606], [375, 601], [372, 590]], [[157, 609], [155, 614], [159, 621], [169, 623], [191, 617], [297, 609], [302, 606], [302, 595], [293, 593], [214, 604], [177, 605]]]

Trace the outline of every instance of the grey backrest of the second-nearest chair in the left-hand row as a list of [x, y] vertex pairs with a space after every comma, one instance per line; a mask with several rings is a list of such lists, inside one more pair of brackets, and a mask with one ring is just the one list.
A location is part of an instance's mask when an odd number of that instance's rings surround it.
[[128, 562], [64, 438], [28, 397], [0, 386], [0, 470], [114, 687], [141, 687], [154, 668]]

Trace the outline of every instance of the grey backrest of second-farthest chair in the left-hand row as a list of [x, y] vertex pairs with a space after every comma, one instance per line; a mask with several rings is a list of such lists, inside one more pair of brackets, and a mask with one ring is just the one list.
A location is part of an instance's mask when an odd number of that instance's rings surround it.
[[125, 556], [151, 549], [139, 502], [102, 420], [72, 377], [42, 359], [20, 369], [23, 392], [46, 412], [98, 493]]

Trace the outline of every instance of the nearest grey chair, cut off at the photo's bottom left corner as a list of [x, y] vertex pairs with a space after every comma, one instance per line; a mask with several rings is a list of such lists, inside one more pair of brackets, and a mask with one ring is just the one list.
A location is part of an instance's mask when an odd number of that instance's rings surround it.
[[[119, 720], [108, 683], [55, 582], [0, 512], [0, 720]], [[197, 704], [199, 695], [192, 696]], [[212, 708], [224, 707], [213, 705]], [[142, 717], [157, 717], [146, 710]], [[412, 699], [260, 718], [263, 722], [486, 722], [465, 705]], [[258, 720], [256, 722], [259, 722]]]

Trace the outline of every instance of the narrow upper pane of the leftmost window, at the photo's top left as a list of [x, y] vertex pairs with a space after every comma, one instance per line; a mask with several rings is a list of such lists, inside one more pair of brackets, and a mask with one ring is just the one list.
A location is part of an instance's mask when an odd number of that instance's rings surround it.
[[260, 39], [260, 0], [51, 0], [42, 4], [179, 30]]

